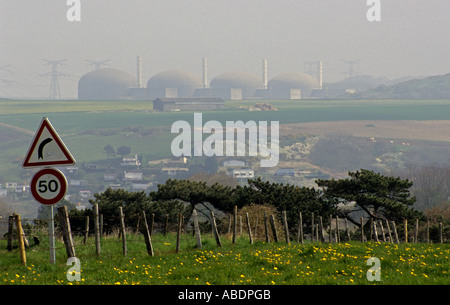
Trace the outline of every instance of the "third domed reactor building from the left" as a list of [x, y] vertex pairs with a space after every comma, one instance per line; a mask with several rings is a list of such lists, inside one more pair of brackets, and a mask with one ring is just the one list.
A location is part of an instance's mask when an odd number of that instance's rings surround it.
[[261, 80], [246, 72], [226, 72], [211, 80], [211, 95], [225, 100], [252, 99], [263, 88]]

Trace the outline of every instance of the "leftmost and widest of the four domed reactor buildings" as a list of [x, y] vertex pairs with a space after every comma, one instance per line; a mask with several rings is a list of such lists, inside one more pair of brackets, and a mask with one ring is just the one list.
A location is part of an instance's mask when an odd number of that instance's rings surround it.
[[112, 68], [96, 69], [78, 81], [79, 100], [119, 100], [128, 98], [129, 89], [136, 86], [136, 78]]

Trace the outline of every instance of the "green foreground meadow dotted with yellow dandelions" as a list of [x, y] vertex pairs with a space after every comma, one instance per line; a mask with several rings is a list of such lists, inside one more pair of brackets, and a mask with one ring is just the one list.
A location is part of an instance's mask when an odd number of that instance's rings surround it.
[[[58, 242], [57, 263], [49, 263], [45, 237], [27, 250], [27, 265], [17, 249], [7, 252], [0, 242], [0, 283], [5, 285], [448, 285], [449, 244], [390, 243], [265, 243], [240, 237], [236, 244], [222, 236], [218, 247], [211, 235], [196, 248], [184, 234], [175, 253], [175, 234], [155, 234], [150, 257], [141, 235], [127, 234], [128, 255], [117, 236], [102, 239], [97, 256], [93, 238], [76, 238], [81, 280], [68, 281], [65, 249]], [[370, 257], [380, 259], [381, 281], [369, 281]]]

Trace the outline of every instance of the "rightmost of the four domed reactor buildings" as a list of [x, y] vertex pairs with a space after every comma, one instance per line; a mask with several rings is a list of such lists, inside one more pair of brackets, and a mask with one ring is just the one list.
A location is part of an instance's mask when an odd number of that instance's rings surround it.
[[301, 72], [282, 73], [272, 78], [268, 90], [273, 99], [302, 99], [311, 97], [319, 82], [312, 76]]

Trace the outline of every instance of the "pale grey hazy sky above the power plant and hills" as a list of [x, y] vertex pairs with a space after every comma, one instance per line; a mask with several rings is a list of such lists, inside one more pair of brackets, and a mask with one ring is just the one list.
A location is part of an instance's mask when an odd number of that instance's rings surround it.
[[[355, 69], [390, 79], [450, 72], [449, 0], [381, 0], [381, 21], [369, 22], [366, 0], [80, 0], [81, 21], [69, 22], [64, 0], [0, 0], [0, 96], [46, 97], [43, 59], [67, 59], [59, 71], [63, 98], [77, 97], [86, 60], [136, 74], [187, 70], [211, 80], [240, 70], [269, 79], [307, 72], [323, 61], [324, 82]], [[14, 81], [9, 85], [2, 81]]]

